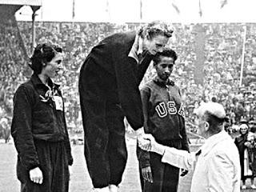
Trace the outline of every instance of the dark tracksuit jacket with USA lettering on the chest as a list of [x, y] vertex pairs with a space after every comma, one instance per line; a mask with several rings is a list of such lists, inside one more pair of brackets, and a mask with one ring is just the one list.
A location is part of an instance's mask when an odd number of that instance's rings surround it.
[[[189, 150], [184, 107], [182, 106], [180, 91], [173, 81], [167, 85], [158, 81], [155, 77], [142, 87], [142, 103], [144, 116], [144, 130], [152, 134], [157, 142], [174, 141], [181, 142], [178, 149]], [[141, 151], [141, 150], [138, 150]], [[148, 153], [142, 153], [148, 154]], [[149, 165], [149, 156], [138, 152], [142, 167]]]

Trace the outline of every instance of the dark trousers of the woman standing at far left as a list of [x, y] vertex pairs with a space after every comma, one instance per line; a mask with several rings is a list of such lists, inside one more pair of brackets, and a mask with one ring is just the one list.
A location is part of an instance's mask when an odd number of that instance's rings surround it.
[[64, 142], [35, 141], [42, 184], [30, 181], [29, 171], [18, 159], [17, 175], [21, 182], [21, 192], [68, 192], [70, 173]]

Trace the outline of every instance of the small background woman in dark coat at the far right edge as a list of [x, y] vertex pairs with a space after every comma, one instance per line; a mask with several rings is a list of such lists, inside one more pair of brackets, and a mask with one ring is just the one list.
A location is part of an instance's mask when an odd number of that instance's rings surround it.
[[249, 132], [249, 126], [242, 123], [239, 127], [240, 135], [234, 139], [235, 145], [238, 147], [241, 165], [241, 179], [242, 189], [246, 189], [246, 178], [251, 180], [251, 188], [256, 189], [254, 186], [255, 169], [254, 165], [254, 134]]

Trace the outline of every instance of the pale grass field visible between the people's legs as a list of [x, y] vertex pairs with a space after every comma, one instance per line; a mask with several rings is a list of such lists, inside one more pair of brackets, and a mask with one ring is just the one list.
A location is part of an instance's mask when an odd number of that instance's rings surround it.
[[[140, 192], [140, 184], [138, 178], [138, 161], [135, 154], [134, 139], [127, 140], [128, 162], [123, 175], [122, 183], [119, 191], [122, 192]], [[191, 150], [196, 150], [194, 147]], [[89, 174], [86, 170], [86, 161], [83, 156], [83, 146], [72, 146], [72, 154], [74, 156], [74, 165], [72, 166], [72, 176], [70, 181], [71, 192], [90, 192], [92, 184]], [[17, 154], [13, 144], [0, 143], [0, 192], [18, 192], [19, 182], [15, 174], [15, 163]], [[180, 179], [179, 192], [190, 190], [190, 181], [192, 174]], [[249, 185], [249, 184], [248, 184]], [[256, 190], [244, 190], [256, 191]]]

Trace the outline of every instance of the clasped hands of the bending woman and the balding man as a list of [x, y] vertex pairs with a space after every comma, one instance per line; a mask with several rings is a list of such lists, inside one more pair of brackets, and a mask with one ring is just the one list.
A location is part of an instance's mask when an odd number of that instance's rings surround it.
[[152, 134], [140, 134], [137, 139], [138, 146], [142, 150], [151, 151], [158, 154], [164, 154], [165, 146], [162, 146], [161, 144], [156, 142]]

